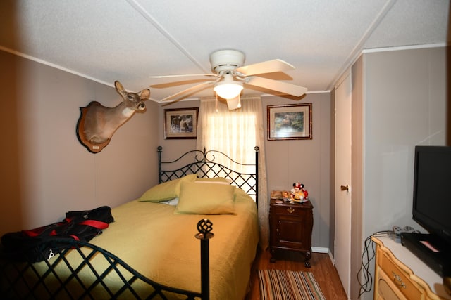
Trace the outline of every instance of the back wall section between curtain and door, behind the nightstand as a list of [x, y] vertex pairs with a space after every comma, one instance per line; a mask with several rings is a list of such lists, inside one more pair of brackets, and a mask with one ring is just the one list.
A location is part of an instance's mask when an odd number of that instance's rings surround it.
[[326, 250], [333, 224], [330, 223], [330, 93], [307, 94], [302, 100], [294, 101], [280, 97], [262, 98], [264, 128], [267, 131], [267, 105], [312, 104], [311, 140], [268, 141], [266, 146], [266, 171], [268, 191], [290, 190], [295, 182], [304, 183], [314, 206], [314, 227], [312, 247]]

